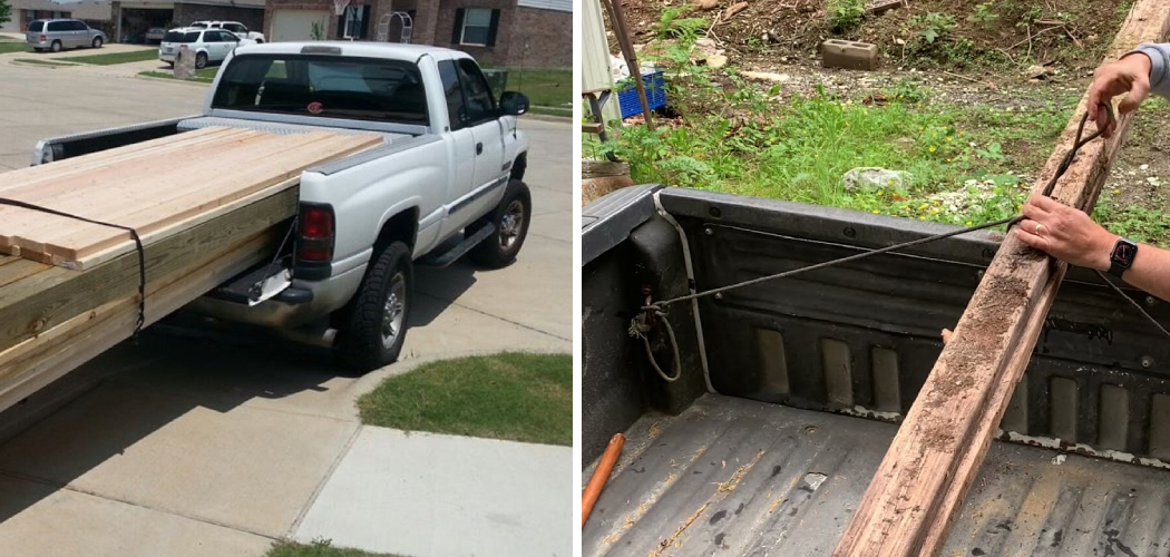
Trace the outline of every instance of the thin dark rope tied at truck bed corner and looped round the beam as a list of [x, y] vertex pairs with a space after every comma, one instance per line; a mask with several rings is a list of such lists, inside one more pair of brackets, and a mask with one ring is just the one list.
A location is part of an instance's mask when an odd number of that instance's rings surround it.
[[[1108, 122], [1104, 125], [1100, 125], [1097, 128], [1097, 130], [1095, 132], [1090, 133], [1088, 137], [1082, 137], [1085, 135], [1085, 123], [1088, 121], [1088, 116], [1089, 116], [1088, 111], [1086, 111], [1085, 115], [1081, 116], [1080, 125], [1076, 126], [1076, 140], [1073, 142], [1073, 146], [1068, 150], [1067, 153], [1065, 153], [1065, 157], [1060, 160], [1060, 164], [1057, 166], [1055, 173], [1052, 174], [1052, 179], [1048, 180], [1048, 184], [1045, 185], [1044, 191], [1041, 192], [1042, 195], [1045, 195], [1045, 197], [1052, 197], [1052, 192], [1057, 187], [1057, 181], [1059, 181], [1060, 178], [1065, 176], [1065, 172], [1068, 171], [1068, 166], [1072, 165], [1073, 160], [1076, 158], [1076, 153], [1081, 150], [1081, 147], [1083, 147], [1089, 142], [1092, 142], [1092, 140], [1096, 139], [1097, 137], [1100, 137], [1104, 132], [1106, 128], [1108, 128], [1110, 124], [1113, 124], [1113, 122], [1114, 122], [1113, 106], [1109, 105], [1109, 103], [1101, 103], [1101, 108], [1104, 109], [1106, 116], [1108, 117]], [[669, 298], [669, 300], [663, 300], [663, 301], [660, 301], [660, 302], [647, 303], [646, 305], [644, 305], [641, 308], [642, 312], [639, 314], [636, 317], [634, 317], [634, 319], [631, 322], [629, 335], [631, 336], [641, 337], [642, 342], [646, 344], [646, 353], [647, 353], [647, 356], [649, 356], [651, 364], [654, 366], [655, 370], [658, 370], [659, 374], [661, 374], [663, 379], [667, 379], [666, 373], [662, 373], [662, 370], [659, 367], [658, 362], [655, 362], [655, 359], [654, 359], [654, 355], [651, 352], [649, 339], [647, 338], [647, 333], [651, 330], [649, 323], [652, 322], [652, 319], [651, 319], [649, 316], [654, 315], [654, 316], [666, 317], [665, 308], [667, 305], [675, 304], [675, 303], [679, 303], [679, 302], [686, 302], [686, 301], [689, 301], [689, 300], [698, 300], [701, 297], [711, 296], [711, 295], [720, 294], [720, 293], [725, 293], [728, 290], [735, 290], [737, 288], [750, 287], [752, 284], [759, 284], [762, 282], [775, 281], [775, 280], [778, 280], [778, 278], [786, 278], [786, 277], [790, 277], [790, 276], [799, 275], [801, 273], [808, 273], [808, 271], [817, 270], [817, 269], [824, 269], [826, 267], [833, 267], [833, 266], [838, 266], [838, 264], [844, 264], [844, 263], [848, 263], [848, 262], [852, 262], [852, 261], [858, 261], [858, 260], [861, 260], [861, 259], [872, 257], [874, 255], [880, 255], [880, 254], [883, 254], [883, 253], [889, 253], [889, 252], [894, 252], [894, 250], [899, 250], [899, 249], [906, 249], [906, 248], [910, 248], [910, 247], [915, 247], [915, 246], [921, 246], [923, 243], [930, 243], [930, 242], [934, 242], [934, 241], [937, 241], [937, 240], [943, 240], [943, 239], [947, 239], [947, 238], [957, 236], [957, 235], [961, 235], [961, 234], [966, 234], [966, 233], [970, 233], [970, 232], [982, 231], [982, 229], [986, 229], [986, 228], [993, 228], [993, 227], [1002, 226], [1002, 225], [1007, 225], [1007, 229], [1011, 231], [1011, 227], [1016, 226], [1023, 219], [1024, 219], [1023, 215], [1009, 216], [1006, 219], [1000, 219], [1000, 220], [997, 220], [997, 221], [993, 221], [993, 222], [985, 222], [985, 224], [982, 224], [982, 225], [969, 226], [966, 228], [962, 228], [962, 229], [957, 229], [957, 231], [952, 231], [952, 232], [945, 232], [945, 233], [942, 233], [942, 234], [935, 234], [932, 236], [920, 238], [917, 240], [910, 240], [908, 242], [896, 243], [896, 245], [887, 246], [887, 247], [879, 248], [879, 249], [872, 249], [872, 250], [862, 252], [862, 253], [859, 253], [859, 254], [849, 255], [847, 257], [840, 257], [840, 259], [835, 259], [835, 260], [831, 260], [831, 261], [825, 261], [825, 262], [821, 262], [821, 263], [811, 264], [811, 266], [807, 266], [807, 267], [801, 267], [799, 269], [792, 269], [792, 270], [786, 270], [786, 271], [783, 271], [783, 273], [776, 273], [776, 274], [772, 274], [772, 275], [766, 275], [766, 276], [760, 276], [760, 277], [756, 277], [756, 278], [750, 278], [750, 280], [746, 280], [746, 281], [737, 282], [735, 284], [729, 284], [729, 286], [725, 286], [725, 287], [713, 288], [713, 289], [709, 289], [709, 290], [703, 290], [703, 291], [698, 291], [698, 293], [688, 294], [686, 296], [679, 296], [679, 297], [673, 297], [673, 298]], [[1116, 284], [1114, 284], [1109, 280], [1104, 278], [1104, 275], [1102, 275], [1100, 271], [1097, 271], [1097, 274], [1101, 275], [1101, 277], [1102, 277], [1102, 280], [1104, 280], [1106, 284], [1109, 284], [1110, 287], [1113, 287], [1113, 289], [1115, 291], [1117, 291], [1117, 294], [1120, 294], [1123, 298], [1126, 298], [1126, 301], [1128, 301], [1129, 303], [1131, 303], [1134, 305], [1134, 308], [1136, 308], [1137, 311], [1142, 314], [1142, 316], [1144, 316], [1150, 323], [1154, 323], [1155, 326], [1157, 326], [1158, 330], [1162, 331], [1163, 335], [1165, 335], [1166, 337], [1170, 337], [1170, 331], [1166, 331], [1161, 324], [1158, 324], [1158, 322], [1150, 314], [1148, 314], [1145, 311], [1145, 309], [1143, 309], [1141, 307], [1141, 304], [1138, 304], [1137, 302], [1134, 302], [1129, 296], [1126, 296], [1124, 293], [1121, 290], [1121, 288], [1119, 288]], [[667, 319], [663, 318], [662, 322], [666, 323], [666, 325], [667, 325], [667, 332], [669, 333], [669, 337], [670, 337], [670, 345], [672, 345], [672, 348], [674, 350], [675, 367], [676, 367], [676, 370], [679, 370], [679, 346], [677, 346], [677, 344], [675, 343], [675, 339], [674, 339], [674, 331], [670, 330], [670, 324], [667, 323]], [[681, 370], [680, 370], [680, 372], [681, 372]], [[680, 372], [675, 373], [676, 377], [674, 377], [674, 379], [667, 379], [667, 380], [668, 381], [676, 380], [677, 376], [680, 374]]]

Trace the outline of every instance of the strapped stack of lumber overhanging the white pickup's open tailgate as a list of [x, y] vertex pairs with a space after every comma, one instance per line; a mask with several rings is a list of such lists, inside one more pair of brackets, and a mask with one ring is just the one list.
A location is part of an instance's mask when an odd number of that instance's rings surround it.
[[[273, 257], [304, 169], [381, 143], [212, 128], [4, 173], [0, 198], [136, 228], [150, 324]], [[0, 410], [129, 338], [138, 287], [129, 232], [0, 205]]]

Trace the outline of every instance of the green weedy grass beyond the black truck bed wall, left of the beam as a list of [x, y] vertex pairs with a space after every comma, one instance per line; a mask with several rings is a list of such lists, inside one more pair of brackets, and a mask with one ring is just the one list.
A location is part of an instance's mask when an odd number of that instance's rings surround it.
[[[751, 88], [752, 84], [742, 87]], [[1021, 177], [1047, 159], [1073, 104], [1024, 110], [928, 102], [902, 84], [882, 105], [834, 97], [755, 98], [739, 118], [689, 116], [656, 131], [622, 130], [610, 145], [635, 183], [854, 208], [965, 225], [1007, 216], [1026, 199]], [[734, 102], [734, 99], [727, 99]], [[750, 103], [750, 104], [751, 104]], [[585, 153], [605, 151], [589, 139]], [[846, 191], [854, 167], [909, 172], [901, 185]]]

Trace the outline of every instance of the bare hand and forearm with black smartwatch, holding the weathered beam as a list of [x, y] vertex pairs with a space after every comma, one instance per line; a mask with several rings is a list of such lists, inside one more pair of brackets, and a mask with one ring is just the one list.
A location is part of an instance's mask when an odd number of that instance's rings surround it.
[[[1069, 264], [1102, 273], [1109, 270], [1109, 254], [1120, 236], [1093, 222], [1083, 211], [1034, 195], [1024, 205], [1023, 213], [1024, 220], [1016, 227], [1016, 235], [1024, 243]], [[1138, 245], [1133, 267], [1121, 278], [1162, 300], [1170, 300], [1170, 252]]]

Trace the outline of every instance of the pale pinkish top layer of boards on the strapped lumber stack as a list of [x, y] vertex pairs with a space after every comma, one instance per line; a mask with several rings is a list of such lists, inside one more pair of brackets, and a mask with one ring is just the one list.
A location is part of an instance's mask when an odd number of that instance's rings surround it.
[[[0, 197], [157, 239], [269, 187], [288, 187], [310, 166], [381, 143], [377, 135], [209, 128], [0, 174]], [[0, 253], [84, 269], [132, 247], [125, 231], [0, 206]]]

